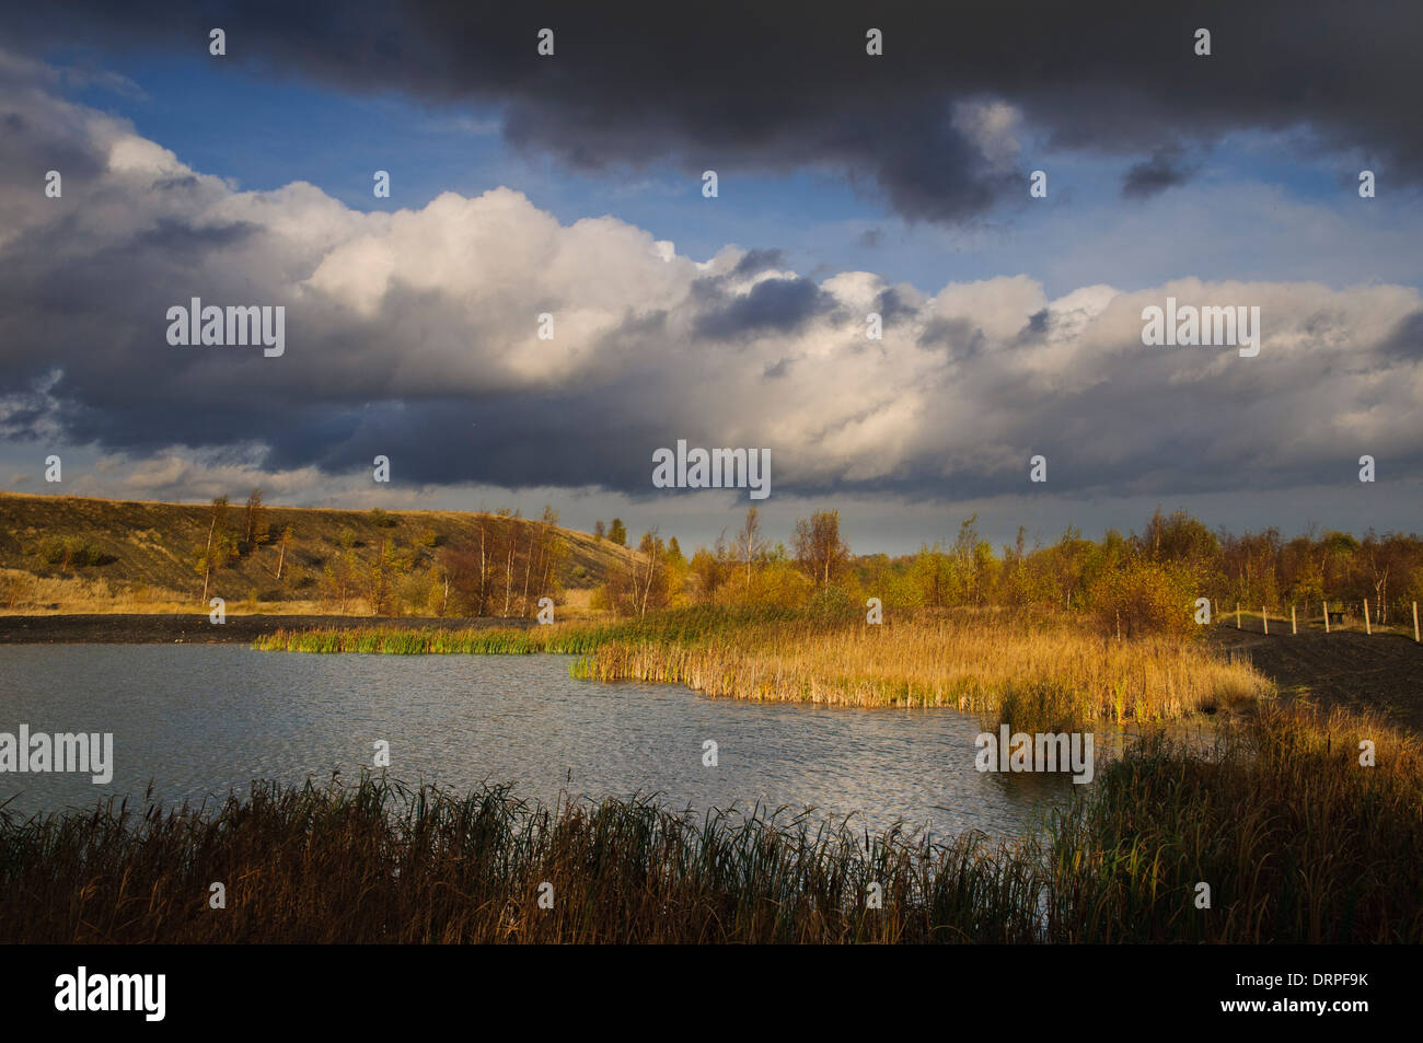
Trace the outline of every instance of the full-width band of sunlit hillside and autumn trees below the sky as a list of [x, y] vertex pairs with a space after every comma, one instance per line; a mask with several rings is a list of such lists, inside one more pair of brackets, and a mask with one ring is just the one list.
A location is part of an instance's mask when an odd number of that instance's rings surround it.
[[[245, 505], [131, 504], [77, 497], [0, 497], [0, 569], [55, 588], [10, 581], [0, 609], [134, 610], [164, 592], [206, 612], [208, 596], [236, 610], [445, 619], [532, 619], [542, 599], [559, 619], [646, 618], [665, 609], [815, 610], [878, 599], [887, 618], [979, 609], [1057, 610], [1113, 637], [1188, 635], [1197, 602], [1212, 616], [1262, 609], [1301, 626], [1323, 606], [1363, 626], [1412, 630], [1423, 600], [1423, 538], [1390, 532], [1211, 531], [1184, 512], [1155, 512], [1141, 534], [1109, 529], [1087, 539], [1069, 528], [1029, 544], [1019, 529], [995, 546], [978, 518], [955, 519], [952, 538], [891, 556], [855, 554], [834, 509], [815, 511], [783, 534], [764, 531], [756, 508], [710, 546], [684, 549], [656, 528], [629, 539], [623, 519], [593, 534], [514, 508], [490, 512], [323, 511], [273, 508], [260, 489]], [[872, 534], [855, 534], [868, 541]], [[104, 585], [95, 581], [102, 579]], [[191, 599], [191, 600], [189, 600]], [[122, 602], [122, 606], [120, 605]], [[142, 609], [139, 609], [142, 610]], [[1338, 620], [1336, 620], [1338, 625]]]

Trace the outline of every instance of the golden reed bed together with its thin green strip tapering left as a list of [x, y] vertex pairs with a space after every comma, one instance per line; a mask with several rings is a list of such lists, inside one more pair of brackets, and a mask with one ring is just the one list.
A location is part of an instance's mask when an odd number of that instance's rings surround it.
[[1269, 694], [1202, 642], [1111, 640], [1060, 619], [925, 618], [895, 625], [795, 613], [672, 612], [531, 630], [280, 632], [292, 652], [582, 656], [573, 676], [686, 684], [710, 696], [842, 706], [946, 706], [1029, 730], [1160, 721]]

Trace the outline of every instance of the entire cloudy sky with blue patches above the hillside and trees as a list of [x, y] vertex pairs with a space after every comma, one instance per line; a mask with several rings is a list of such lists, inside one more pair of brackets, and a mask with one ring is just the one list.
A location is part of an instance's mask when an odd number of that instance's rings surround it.
[[[1423, 528], [1420, 9], [919, 7], [7, 10], [0, 488], [689, 549], [750, 505], [888, 554]], [[169, 343], [194, 297], [282, 354]], [[1258, 354], [1143, 343], [1168, 297]], [[657, 488], [679, 440], [770, 497]]]

